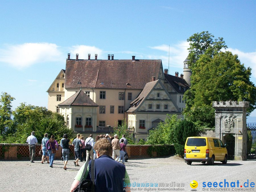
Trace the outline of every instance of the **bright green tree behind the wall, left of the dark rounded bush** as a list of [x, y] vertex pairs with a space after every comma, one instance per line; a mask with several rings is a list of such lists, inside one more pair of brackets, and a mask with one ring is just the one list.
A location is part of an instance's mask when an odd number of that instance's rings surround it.
[[176, 143], [175, 130], [179, 124], [177, 115], [166, 115], [164, 122], [149, 131], [146, 144], [174, 144]]

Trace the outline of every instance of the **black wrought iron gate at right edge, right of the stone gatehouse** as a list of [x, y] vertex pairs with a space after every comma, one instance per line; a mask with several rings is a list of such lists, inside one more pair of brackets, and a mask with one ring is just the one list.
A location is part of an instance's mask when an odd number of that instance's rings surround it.
[[256, 125], [247, 126], [247, 159], [256, 158]]

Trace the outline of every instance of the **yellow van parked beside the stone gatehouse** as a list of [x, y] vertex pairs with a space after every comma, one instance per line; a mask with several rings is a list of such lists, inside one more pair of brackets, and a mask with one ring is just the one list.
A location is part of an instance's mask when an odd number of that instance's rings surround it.
[[184, 160], [188, 165], [192, 162], [214, 164], [214, 161], [227, 163], [228, 152], [225, 145], [214, 137], [188, 137], [185, 143]]

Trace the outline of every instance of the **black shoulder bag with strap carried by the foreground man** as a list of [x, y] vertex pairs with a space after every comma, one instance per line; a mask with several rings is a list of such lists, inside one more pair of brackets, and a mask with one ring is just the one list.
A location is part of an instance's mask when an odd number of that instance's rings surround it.
[[87, 170], [90, 160], [88, 159], [85, 163], [84, 170], [82, 176], [80, 178], [80, 183], [77, 185], [77, 188], [73, 192], [94, 192], [94, 184], [95, 184], [95, 177], [94, 177], [94, 160], [91, 160], [91, 180], [83, 179], [84, 174]]

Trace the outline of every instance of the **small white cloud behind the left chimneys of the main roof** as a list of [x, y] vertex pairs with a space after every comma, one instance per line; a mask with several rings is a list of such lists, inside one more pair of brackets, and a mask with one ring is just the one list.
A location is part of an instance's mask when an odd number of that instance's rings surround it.
[[[96, 48], [95, 46], [87, 46], [87, 45], [76, 45], [70, 48], [70, 58], [75, 59], [76, 54], [78, 53], [78, 59], [88, 59], [88, 54], [91, 54], [91, 59], [95, 58], [95, 54], [98, 54], [98, 59], [104, 59], [104, 55], [102, 55], [103, 51], [100, 48]], [[105, 58], [106, 59], [106, 58]]]

